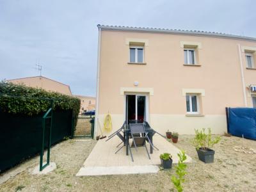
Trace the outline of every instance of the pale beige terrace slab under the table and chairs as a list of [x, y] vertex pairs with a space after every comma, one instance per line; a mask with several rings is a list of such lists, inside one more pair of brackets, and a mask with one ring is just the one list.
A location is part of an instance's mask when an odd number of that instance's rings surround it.
[[[153, 138], [154, 145], [159, 150], [153, 150], [153, 154], [150, 154], [150, 159], [148, 159], [145, 147], [138, 147], [138, 152], [135, 148], [131, 148], [134, 162], [132, 162], [130, 155], [126, 156], [125, 147], [115, 154], [118, 149], [116, 145], [120, 143], [120, 139], [117, 136], [109, 141], [106, 140], [107, 138], [97, 142], [77, 176], [157, 173], [159, 164], [161, 164], [159, 156], [164, 152], [172, 154], [173, 163], [178, 163], [179, 160], [177, 156], [180, 152], [179, 148], [159, 135], [155, 135]], [[147, 143], [148, 151], [149, 147]], [[188, 156], [186, 163], [191, 161], [191, 157]]]

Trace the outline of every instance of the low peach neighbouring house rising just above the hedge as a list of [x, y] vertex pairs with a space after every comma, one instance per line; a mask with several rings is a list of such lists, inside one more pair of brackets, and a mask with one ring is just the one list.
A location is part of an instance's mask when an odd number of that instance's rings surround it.
[[42, 88], [51, 92], [59, 92], [65, 95], [72, 95], [69, 85], [54, 81], [47, 77], [35, 76], [35, 77], [24, 77], [19, 79], [6, 80], [15, 84], [25, 84], [34, 88]]

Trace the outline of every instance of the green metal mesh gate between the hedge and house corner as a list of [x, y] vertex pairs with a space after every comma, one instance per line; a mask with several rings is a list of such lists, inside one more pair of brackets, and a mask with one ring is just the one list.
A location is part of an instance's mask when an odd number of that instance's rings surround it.
[[94, 116], [78, 116], [73, 118], [74, 138], [93, 138]]

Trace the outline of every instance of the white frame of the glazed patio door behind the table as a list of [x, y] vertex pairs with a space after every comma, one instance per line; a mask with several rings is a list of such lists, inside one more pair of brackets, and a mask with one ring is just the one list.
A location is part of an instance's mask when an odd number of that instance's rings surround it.
[[125, 120], [127, 120], [127, 115], [128, 115], [128, 113], [127, 113], [127, 104], [128, 104], [128, 100], [127, 100], [127, 95], [135, 95], [136, 97], [135, 97], [135, 116], [136, 116], [136, 119], [138, 118], [138, 103], [137, 103], [137, 97], [138, 96], [145, 96], [145, 120], [147, 121], [147, 122], [149, 122], [149, 95], [148, 95], [148, 93], [134, 93], [134, 92], [129, 92], [129, 93], [125, 93], [124, 94], [124, 121]]

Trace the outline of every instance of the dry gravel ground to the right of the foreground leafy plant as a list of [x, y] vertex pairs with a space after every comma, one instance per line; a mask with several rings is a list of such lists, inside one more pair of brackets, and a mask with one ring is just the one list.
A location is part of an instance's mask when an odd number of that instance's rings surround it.
[[188, 164], [186, 191], [256, 191], [256, 154], [234, 150], [242, 143], [244, 147], [256, 149], [256, 141], [221, 136], [220, 143], [213, 148], [214, 163], [205, 164], [198, 160], [191, 146], [192, 139], [193, 136], [181, 136], [179, 143], [174, 144], [194, 160]]

